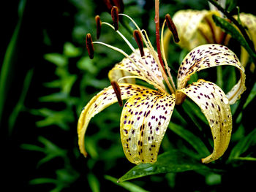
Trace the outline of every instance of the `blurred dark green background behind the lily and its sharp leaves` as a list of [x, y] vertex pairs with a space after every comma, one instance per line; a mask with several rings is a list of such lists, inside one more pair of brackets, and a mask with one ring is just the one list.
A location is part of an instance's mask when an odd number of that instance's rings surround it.
[[[255, 14], [249, 2], [237, 1], [241, 12]], [[88, 158], [80, 155], [77, 144], [80, 111], [92, 96], [110, 85], [108, 70], [123, 58], [102, 46], [95, 46], [94, 60], [86, 52], [86, 33], [96, 39], [94, 16], [100, 15], [112, 23], [104, 1], [12, 0], [2, 1], [1, 8], [7, 10], [1, 12], [0, 37], [0, 140], [4, 159], [1, 176], [2, 188], [7, 187], [4, 191], [17, 187], [23, 191], [127, 191], [116, 185], [116, 179], [134, 166], [124, 157], [121, 147], [118, 104], [91, 120], [86, 133]], [[165, 14], [173, 15], [179, 9], [208, 9], [208, 2], [163, 0], [159, 8], [163, 20]], [[124, 13], [145, 28], [154, 42], [154, 1], [124, 0]], [[129, 31], [120, 30], [132, 39]], [[100, 41], [129, 53], [129, 47], [124, 47], [111, 28], [102, 28]], [[177, 70], [183, 52], [173, 43], [169, 53], [169, 64]], [[184, 123], [178, 115], [172, 120]], [[252, 121], [244, 123], [250, 130], [255, 128]], [[235, 139], [245, 134], [241, 130]], [[184, 140], [167, 130], [159, 153], [184, 145]], [[246, 166], [255, 167], [250, 162]], [[239, 166], [236, 172], [244, 175], [246, 170]], [[220, 179], [219, 175], [169, 173], [131, 182], [146, 191], [217, 191], [238, 180], [232, 169], [228, 177]]]

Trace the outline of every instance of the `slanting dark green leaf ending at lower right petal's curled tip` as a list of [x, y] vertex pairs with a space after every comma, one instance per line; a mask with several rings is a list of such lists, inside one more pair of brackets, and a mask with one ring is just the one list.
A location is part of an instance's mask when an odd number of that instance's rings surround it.
[[189, 144], [192, 145], [192, 147], [194, 147], [197, 153], [202, 155], [202, 157], [209, 154], [209, 151], [206, 145], [203, 144], [202, 140], [196, 137], [195, 134], [192, 134], [192, 132], [188, 131], [186, 128], [178, 126], [177, 124], [172, 122], [169, 123], [169, 128], [174, 133], [178, 134], [179, 137], [189, 142]]

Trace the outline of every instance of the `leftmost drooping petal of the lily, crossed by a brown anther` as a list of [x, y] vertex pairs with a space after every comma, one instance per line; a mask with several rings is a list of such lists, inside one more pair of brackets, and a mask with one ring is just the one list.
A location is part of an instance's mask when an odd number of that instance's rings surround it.
[[[146, 89], [140, 85], [132, 85], [126, 83], [120, 83], [119, 87], [121, 91], [121, 99], [128, 99], [131, 96], [135, 96], [136, 93]], [[116, 93], [113, 91], [112, 86], [109, 86], [108, 88], [105, 88], [101, 92], [97, 93], [97, 95], [94, 96], [88, 104], [86, 104], [86, 107], [83, 108], [78, 120], [78, 145], [80, 152], [83, 155], [87, 155], [84, 146], [84, 137], [91, 118], [104, 110], [106, 107], [116, 102]]]

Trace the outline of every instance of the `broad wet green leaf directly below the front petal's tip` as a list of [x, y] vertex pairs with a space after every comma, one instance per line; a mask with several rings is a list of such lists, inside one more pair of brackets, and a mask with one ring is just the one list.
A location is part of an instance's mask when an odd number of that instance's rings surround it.
[[151, 174], [167, 172], [186, 172], [190, 170], [209, 170], [207, 166], [186, 153], [179, 150], [170, 150], [159, 155], [155, 164], [139, 164], [130, 169], [118, 181], [132, 180], [138, 177], [145, 177]]

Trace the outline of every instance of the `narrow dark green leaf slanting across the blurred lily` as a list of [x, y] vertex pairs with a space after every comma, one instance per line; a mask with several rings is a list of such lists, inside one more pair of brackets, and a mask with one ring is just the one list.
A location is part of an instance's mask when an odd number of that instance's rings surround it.
[[213, 15], [212, 18], [217, 26], [221, 27], [227, 34], [230, 34], [234, 39], [236, 39], [240, 43], [240, 45], [242, 45], [246, 49], [249, 55], [255, 60], [255, 53], [253, 52], [251, 47], [249, 47], [248, 43], [241, 35], [241, 33], [231, 23], [227, 22], [227, 20], [223, 18], [219, 18], [217, 15]]

